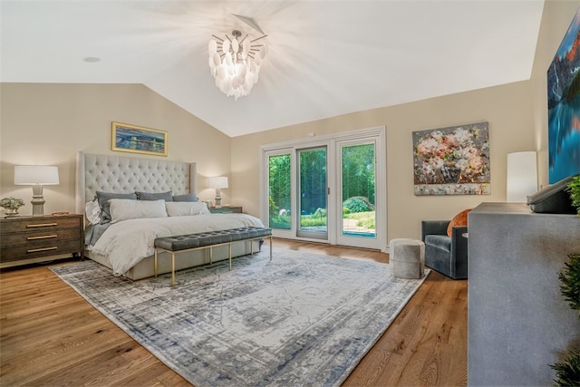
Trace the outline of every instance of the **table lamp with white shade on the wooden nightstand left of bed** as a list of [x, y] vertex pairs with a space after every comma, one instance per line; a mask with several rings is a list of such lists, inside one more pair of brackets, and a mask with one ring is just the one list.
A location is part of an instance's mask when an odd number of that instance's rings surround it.
[[43, 186], [59, 184], [58, 167], [53, 165], [14, 166], [14, 185], [33, 186], [33, 217], [44, 215]]

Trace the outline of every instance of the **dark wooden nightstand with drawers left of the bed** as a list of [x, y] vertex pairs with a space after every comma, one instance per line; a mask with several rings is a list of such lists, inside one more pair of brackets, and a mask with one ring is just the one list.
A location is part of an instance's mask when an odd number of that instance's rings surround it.
[[0, 268], [83, 257], [82, 215], [0, 218]]

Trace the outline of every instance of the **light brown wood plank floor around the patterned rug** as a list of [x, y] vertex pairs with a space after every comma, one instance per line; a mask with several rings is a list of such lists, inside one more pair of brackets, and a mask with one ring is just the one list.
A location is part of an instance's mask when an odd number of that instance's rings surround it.
[[[275, 239], [274, 244], [330, 256], [389, 260], [372, 250], [286, 239]], [[343, 385], [467, 385], [467, 292], [467, 281], [431, 272]], [[103, 317], [48, 266], [30, 266], [0, 273], [0, 385], [189, 383]]]

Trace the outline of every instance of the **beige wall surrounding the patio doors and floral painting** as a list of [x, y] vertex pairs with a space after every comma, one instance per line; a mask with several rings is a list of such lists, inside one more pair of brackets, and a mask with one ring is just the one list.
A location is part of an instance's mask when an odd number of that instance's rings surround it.
[[[353, 131], [374, 126], [387, 129], [387, 241], [420, 237], [421, 219], [446, 219], [482, 201], [506, 200], [507, 153], [537, 150], [540, 178], [547, 184], [546, 70], [579, 1], [546, 1], [536, 48], [534, 77], [474, 92], [434, 98], [372, 111], [360, 111], [328, 120], [307, 122], [232, 142], [234, 202], [258, 213], [258, 149], [261, 144]], [[506, 63], [509, 65], [509, 63]], [[412, 131], [488, 121], [491, 195], [416, 197], [412, 179]]]

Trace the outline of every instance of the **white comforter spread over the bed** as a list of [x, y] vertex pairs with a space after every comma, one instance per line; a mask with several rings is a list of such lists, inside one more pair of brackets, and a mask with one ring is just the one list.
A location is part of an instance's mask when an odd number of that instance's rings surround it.
[[153, 255], [156, 237], [252, 226], [264, 227], [264, 224], [260, 219], [247, 214], [202, 214], [123, 220], [107, 228], [91, 250], [106, 256], [113, 274], [122, 276], [141, 259]]

